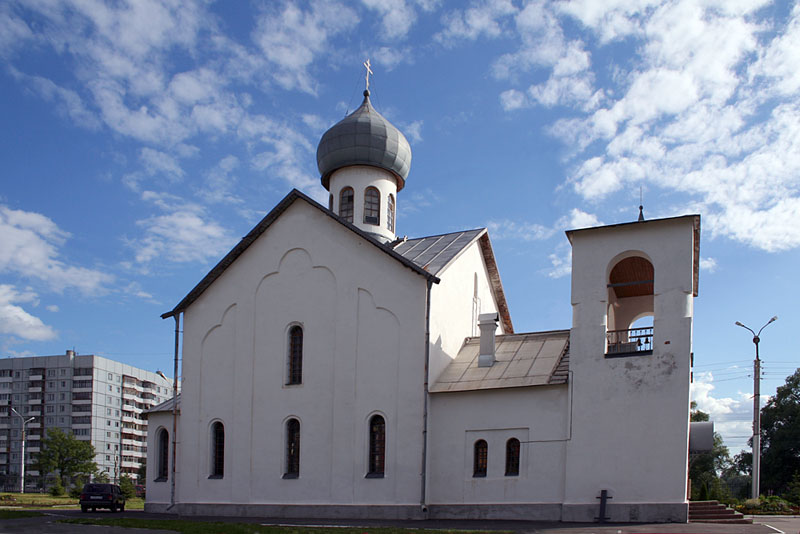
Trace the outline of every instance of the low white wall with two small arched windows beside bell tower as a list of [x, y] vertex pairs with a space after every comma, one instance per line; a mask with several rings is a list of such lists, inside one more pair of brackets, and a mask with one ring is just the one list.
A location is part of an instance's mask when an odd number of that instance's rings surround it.
[[[568, 387], [431, 395], [431, 504], [560, 503], [569, 437]], [[506, 441], [520, 440], [520, 474], [505, 476]], [[486, 477], [473, 477], [475, 441], [488, 444]]]

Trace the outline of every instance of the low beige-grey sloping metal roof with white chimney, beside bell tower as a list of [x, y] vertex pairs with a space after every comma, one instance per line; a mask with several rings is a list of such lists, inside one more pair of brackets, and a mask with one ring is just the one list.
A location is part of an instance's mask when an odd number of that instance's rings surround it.
[[495, 362], [478, 367], [480, 337], [467, 338], [431, 393], [566, 384], [569, 330], [495, 336]]

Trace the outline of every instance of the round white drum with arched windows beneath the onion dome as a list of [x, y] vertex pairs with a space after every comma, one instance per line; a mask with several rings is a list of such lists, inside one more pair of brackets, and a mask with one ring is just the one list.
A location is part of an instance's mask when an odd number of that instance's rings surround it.
[[[380, 224], [377, 226], [364, 222], [364, 191], [370, 186], [376, 188], [381, 194]], [[353, 224], [365, 232], [377, 234], [384, 241], [394, 240], [395, 232], [386, 228], [386, 203], [388, 196], [392, 195], [395, 202], [395, 229], [397, 229], [397, 179], [394, 175], [384, 169], [367, 165], [352, 165], [334, 171], [331, 174], [329, 190], [333, 195], [333, 212], [337, 215], [339, 213], [339, 194], [345, 187], [353, 188]]]

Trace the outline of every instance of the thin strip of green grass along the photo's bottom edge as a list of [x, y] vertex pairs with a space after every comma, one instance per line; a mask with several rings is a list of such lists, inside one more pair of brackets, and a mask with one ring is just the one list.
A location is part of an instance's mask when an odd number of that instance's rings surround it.
[[[182, 534], [475, 534], [474, 530], [426, 530], [416, 528], [274, 527], [255, 523], [202, 523], [181, 519], [65, 519], [61, 523], [106, 525], [123, 528], [174, 530]], [[498, 534], [498, 533], [493, 533]]]

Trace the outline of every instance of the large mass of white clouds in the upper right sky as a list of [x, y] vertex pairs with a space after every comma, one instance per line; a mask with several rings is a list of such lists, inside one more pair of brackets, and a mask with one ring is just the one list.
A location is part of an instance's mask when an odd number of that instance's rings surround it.
[[[800, 6], [770, 20], [765, 4], [531, 2], [516, 16], [521, 46], [493, 72], [515, 83], [532, 70], [537, 81], [503, 90], [500, 105], [574, 109], [549, 131], [565, 143], [568, 183], [586, 200], [645, 183], [688, 195], [712, 236], [798, 247]], [[588, 33], [568, 38], [575, 19]], [[628, 39], [637, 53], [626, 64], [592, 57], [581, 41], [591, 38], [599, 51]], [[613, 76], [596, 88], [601, 72]]]

